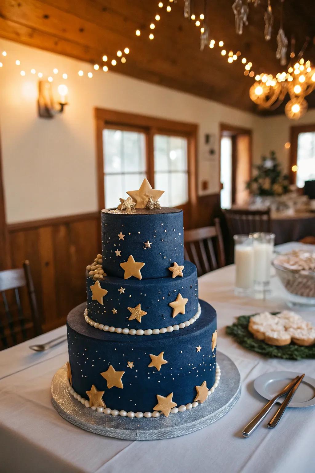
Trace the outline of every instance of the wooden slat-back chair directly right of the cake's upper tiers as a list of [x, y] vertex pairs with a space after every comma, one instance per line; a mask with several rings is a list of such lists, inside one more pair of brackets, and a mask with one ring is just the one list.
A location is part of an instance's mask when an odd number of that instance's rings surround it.
[[[213, 240], [215, 240], [218, 259], [215, 255]], [[185, 260], [196, 264], [198, 276], [225, 266], [220, 219], [214, 219], [214, 227], [185, 230], [184, 243]]]

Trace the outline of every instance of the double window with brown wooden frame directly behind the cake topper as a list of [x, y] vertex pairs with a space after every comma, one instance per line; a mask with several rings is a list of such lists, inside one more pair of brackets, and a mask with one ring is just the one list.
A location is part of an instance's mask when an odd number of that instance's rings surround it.
[[162, 206], [196, 199], [196, 125], [96, 109], [99, 208], [117, 207], [145, 177]]

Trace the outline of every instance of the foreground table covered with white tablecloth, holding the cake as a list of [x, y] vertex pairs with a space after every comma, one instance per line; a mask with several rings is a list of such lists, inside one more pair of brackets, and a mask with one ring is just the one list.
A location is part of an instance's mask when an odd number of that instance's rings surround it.
[[[117, 440], [85, 432], [63, 420], [51, 405], [55, 371], [68, 359], [66, 344], [31, 353], [30, 341], [0, 352], [0, 471], [112, 473], [299, 473], [314, 471], [315, 408], [289, 409], [276, 429], [266, 422], [249, 438], [243, 427], [264, 405], [253, 382], [263, 373], [294, 370], [315, 377], [314, 360], [265, 359], [225, 334], [234, 317], [286, 308], [280, 283], [272, 278], [267, 301], [233, 293], [234, 266], [199, 279], [199, 297], [218, 314], [218, 349], [236, 363], [242, 393], [218, 422], [184, 437], [149, 442]], [[315, 323], [312, 313], [301, 313]], [[66, 333], [62, 326], [36, 337], [43, 343]], [[223, 374], [224, 376], [224, 374]]]

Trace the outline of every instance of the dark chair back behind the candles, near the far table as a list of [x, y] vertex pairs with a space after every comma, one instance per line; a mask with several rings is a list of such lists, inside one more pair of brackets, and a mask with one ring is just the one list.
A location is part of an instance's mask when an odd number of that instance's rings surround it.
[[245, 210], [230, 209], [223, 210], [230, 237], [233, 235], [247, 235], [254, 232], [271, 232], [270, 209]]

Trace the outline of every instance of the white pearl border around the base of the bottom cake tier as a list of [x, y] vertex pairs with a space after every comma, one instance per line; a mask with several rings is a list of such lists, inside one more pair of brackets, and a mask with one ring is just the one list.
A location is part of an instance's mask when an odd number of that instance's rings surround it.
[[[212, 386], [212, 388], [209, 389], [209, 393], [208, 393], [207, 397], [209, 397], [210, 394], [213, 394], [215, 388], [218, 387], [220, 377], [221, 377], [221, 369], [220, 369], [219, 365], [217, 364], [216, 369], [215, 369], [215, 382], [214, 382], [214, 385]], [[80, 403], [83, 404], [85, 407], [90, 407], [90, 402], [87, 401], [84, 397], [80, 396], [80, 394], [77, 394], [71, 385], [69, 385], [68, 391], [69, 391], [70, 394], [73, 395], [73, 397], [75, 399], [80, 401]], [[188, 403], [186, 405], [183, 404], [179, 407], [173, 407], [170, 410], [170, 412], [172, 414], [177, 414], [178, 412], [190, 411], [190, 409], [192, 409], [193, 407], [197, 407], [199, 404], [200, 403], [198, 403], [197, 401], [194, 401], [193, 403]], [[153, 412], [133, 412], [133, 411], [129, 411], [129, 412], [126, 412], [126, 411], [118, 411], [117, 409], [110, 409], [109, 407], [95, 407], [95, 406], [92, 406], [91, 409], [93, 409], [93, 411], [103, 412], [104, 414], [107, 414], [107, 415], [109, 415], [109, 414], [111, 414], [112, 416], [120, 415], [121, 417], [126, 417], [127, 416], [127, 417], [130, 417], [130, 418], [136, 417], [137, 419], [141, 419], [141, 417], [146, 417], [146, 418], [148, 418], [148, 417], [160, 417], [160, 415], [161, 415], [161, 412], [158, 412], [158, 411], [153, 411]]]

